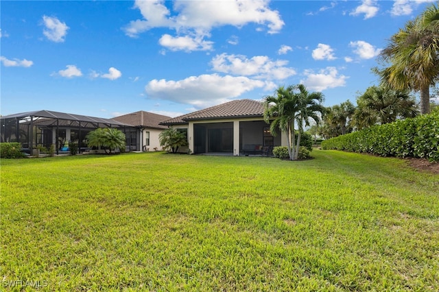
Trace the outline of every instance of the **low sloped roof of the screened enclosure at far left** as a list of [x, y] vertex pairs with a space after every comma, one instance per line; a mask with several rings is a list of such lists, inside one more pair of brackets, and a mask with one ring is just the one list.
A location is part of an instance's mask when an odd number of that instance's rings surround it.
[[82, 116], [80, 114], [67, 114], [65, 112], [54, 112], [51, 110], [36, 110], [34, 112], [21, 112], [19, 114], [10, 114], [8, 116], [0, 117], [1, 120], [7, 119], [27, 119], [30, 117], [35, 118], [47, 118], [47, 119], [59, 119], [65, 121], [78, 121], [88, 123], [104, 123], [107, 125], [119, 125], [125, 126], [127, 124], [114, 119], [102, 119], [98, 117]]

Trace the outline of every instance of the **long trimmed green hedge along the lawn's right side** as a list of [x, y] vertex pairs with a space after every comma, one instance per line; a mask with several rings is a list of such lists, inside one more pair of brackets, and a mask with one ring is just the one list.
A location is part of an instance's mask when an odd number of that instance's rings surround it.
[[331, 138], [322, 149], [439, 161], [439, 112]]

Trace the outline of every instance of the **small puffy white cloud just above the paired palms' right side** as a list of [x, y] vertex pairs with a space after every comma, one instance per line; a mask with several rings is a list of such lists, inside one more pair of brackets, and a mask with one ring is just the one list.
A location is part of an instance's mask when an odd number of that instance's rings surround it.
[[305, 84], [310, 90], [322, 91], [328, 88], [335, 88], [346, 85], [345, 75], [340, 75], [335, 67], [327, 67], [314, 73], [312, 70], [305, 70], [305, 80], [300, 80], [300, 83]]

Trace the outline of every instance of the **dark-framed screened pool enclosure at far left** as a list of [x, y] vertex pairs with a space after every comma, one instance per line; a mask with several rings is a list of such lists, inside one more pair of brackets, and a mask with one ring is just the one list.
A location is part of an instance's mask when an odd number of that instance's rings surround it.
[[126, 150], [139, 150], [139, 131], [113, 119], [40, 110], [0, 117], [1, 142], [19, 142], [23, 149], [55, 146], [56, 154], [68, 149], [69, 143], [78, 143], [81, 153], [87, 149], [86, 135], [99, 127], [113, 127], [126, 135]]

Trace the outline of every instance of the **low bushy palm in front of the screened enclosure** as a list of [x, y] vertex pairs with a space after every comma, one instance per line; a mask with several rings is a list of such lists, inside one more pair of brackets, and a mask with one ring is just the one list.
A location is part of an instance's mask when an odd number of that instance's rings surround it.
[[86, 136], [88, 147], [106, 147], [105, 152], [111, 154], [113, 150], [124, 149], [126, 145], [126, 136], [120, 130], [112, 127], [99, 127], [91, 131]]

